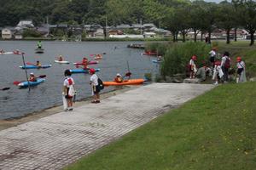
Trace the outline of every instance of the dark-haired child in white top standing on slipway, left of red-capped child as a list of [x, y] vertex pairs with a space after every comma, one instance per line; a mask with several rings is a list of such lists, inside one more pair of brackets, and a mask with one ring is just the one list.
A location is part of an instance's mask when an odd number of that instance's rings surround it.
[[67, 111], [73, 111], [73, 96], [76, 94], [71, 71], [64, 71], [65, 80], [62, 88], [62, 95], [67, 99]]

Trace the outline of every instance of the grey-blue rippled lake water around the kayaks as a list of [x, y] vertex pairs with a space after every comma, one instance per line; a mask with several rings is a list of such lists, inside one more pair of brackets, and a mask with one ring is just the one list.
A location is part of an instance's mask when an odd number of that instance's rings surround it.
[[[35, 63], [40, 60], [42, 65], [51, 64], [48, 69], [27, 70], [28, 74], [33, 72], [36, 76], [46, 75], [46, 81], [32, 88], [20, 89], [13, 82], [26, 80], [24, 70], [19, 68], [22, 65], [21, 55], [0, 54], [0, 88], [10, 87], [7, 91], [0, 91], [0, 119], [8, 119], [34, 111], [42, 111], [46, 108], [61, 105], [61, 88], [64, 80], [63, 72], [66, 69], [76, 69], [74, 65], [60, 65], [54, 63], [58, 55], [65, 60], [79, 62], [84, 56], [92, 59], [90, 54], [102, 54], [103, 59], [97, 65], [90, 65], [93, 68], [100, 68], [97, 75], [102, 81], [112, 81], [116, 73], [122, 75], [128, 71], [127, 62], [132, 73], [131, 78], [143, 78], [145, 73], [156, 74], [158, 65], [152, 63], [153, 57], [142, 56], [141, 49], [126, 48], [131, 42], [43, 42], [44, 54], [35, 54], [37, 42], [34, 41], [0, 41], [0, 49], [14, 51], [20, 49], [25, 52], [26, 62]], [[132, 42], [137, 43], [137, 42]], [[142, 42], [139, 42], [142, 43]], [[114, 48], [117, 47], [117, 48]], [[84, 99], [91, 95], [90, 75], [73, 74], [77, 99]], [[103, 92], [113, 90], [113, 87], [104, 88]]]

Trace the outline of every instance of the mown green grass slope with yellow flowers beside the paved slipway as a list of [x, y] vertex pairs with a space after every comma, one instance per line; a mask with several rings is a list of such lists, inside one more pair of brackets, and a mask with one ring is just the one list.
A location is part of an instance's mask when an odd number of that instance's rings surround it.
[[256, 82], [218, 86], [66, 169], [255, 169], [255, 120]]

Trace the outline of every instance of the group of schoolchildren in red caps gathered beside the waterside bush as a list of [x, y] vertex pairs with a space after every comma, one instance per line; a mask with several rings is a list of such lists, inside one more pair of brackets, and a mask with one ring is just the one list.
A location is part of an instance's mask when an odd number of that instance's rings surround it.
[[[210, 66], [204, 65], [201, 68], [197, 68], [196, 63], [197, 57], [193, 55], [189, 60], [189, 78], [193, 79], [199, 77], [201, 81], [205, 81], [207, 75], [212, 77], [213, 84], [219, 82], [230, 81], [230, 66], [231, 59], [230, 53], [224, 52], [221, 59], [218, 59], [217, 48], [212, 48], [209, 52], [209, 63]], [[240, 56], [236, 57], [236, 82], [246, 82], [246, 65]]]

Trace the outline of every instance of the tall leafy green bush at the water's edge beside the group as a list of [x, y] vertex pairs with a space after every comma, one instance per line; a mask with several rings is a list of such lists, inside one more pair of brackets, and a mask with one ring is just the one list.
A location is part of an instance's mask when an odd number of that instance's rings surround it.
[[173, 76], [178, 73], [184, 73], [189, 64], [192, 55], [197, 56], [195, 64], [197, 67], [208, 63], [208, 53], [211, 47], [204, 42], [185, 42], [176, 44], [173, 48], [166, 51], [161, 65], [161, 75]]

